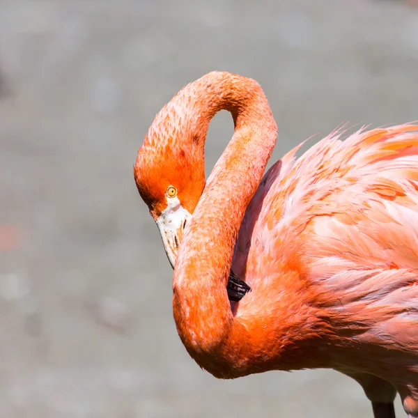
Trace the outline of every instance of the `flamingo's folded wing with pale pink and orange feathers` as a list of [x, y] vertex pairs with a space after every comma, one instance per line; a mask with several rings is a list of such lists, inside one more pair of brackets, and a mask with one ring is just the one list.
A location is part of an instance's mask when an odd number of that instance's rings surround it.
[[374, 321], [374, 337], [391, 335], [406, 347], [415, 330], [416, 341], [417, 131], [359, 130], [345, 141], [333, 132], [296, 162], [285, 157], [252, 229], [251, 287], [266, 277], [280, 287], [283, 266], [297, 262], [324, 303]]

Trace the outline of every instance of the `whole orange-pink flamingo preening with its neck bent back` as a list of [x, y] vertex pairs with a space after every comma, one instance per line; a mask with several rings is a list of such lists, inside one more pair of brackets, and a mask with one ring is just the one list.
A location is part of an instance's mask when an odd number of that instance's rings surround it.
[[[231, 141], [205, 180], [211, 118]], [[261, 86], [210, 72], [155, 116], [134, 164], [173, 272], [187, 352], [216, 378], [328, 368], [375, 418], [418, 417], [418, 125], [342, 128], [263, 176], [277, 125]], [[181, 243], [181, 245], [180, 245]]]

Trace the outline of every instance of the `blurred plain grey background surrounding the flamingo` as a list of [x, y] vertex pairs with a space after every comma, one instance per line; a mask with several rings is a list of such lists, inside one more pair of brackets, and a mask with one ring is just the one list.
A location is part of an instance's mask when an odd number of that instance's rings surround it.
[[[1, 417], [371, 417], [337, 373], [215, 380], [178, 339], [172, 270], [132, 164], [157, 111], [210, 70], [263, 86], [272, 162], [343, 122], [415, 121], [418, 8], [1, 0]], [[232, 132], [221, 112], [208, 172]]]

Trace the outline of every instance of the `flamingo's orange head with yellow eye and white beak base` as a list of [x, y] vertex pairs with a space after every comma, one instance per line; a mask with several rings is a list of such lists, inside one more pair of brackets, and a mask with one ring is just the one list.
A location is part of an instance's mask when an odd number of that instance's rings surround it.
[[164, 146], [162, 142], [146, 138], [138, 151], [134, 178], [174, 268], [187, 220], [205, 187], [205, 167], [203, 152], [193, 142], [187, 146], [181, 141]]

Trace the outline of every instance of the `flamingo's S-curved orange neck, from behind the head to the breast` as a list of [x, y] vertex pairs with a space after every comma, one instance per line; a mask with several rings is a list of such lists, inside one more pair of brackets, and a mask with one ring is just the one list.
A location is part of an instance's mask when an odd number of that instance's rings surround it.
[[235, 123], [185, 231], [173, 277], [180, 338], [196, 362], [216, 374], [225, 353], [234, 350], [227, 346], [231, 335], [243, 329], [231, 313], [226, 282], [238, 230], [274, 148], [277, 126], [261, 87], [245, 77], [213, 72], [179, 95], [192, 100], [189, 117], [201, 146], [217, 111], [229, 110]]

